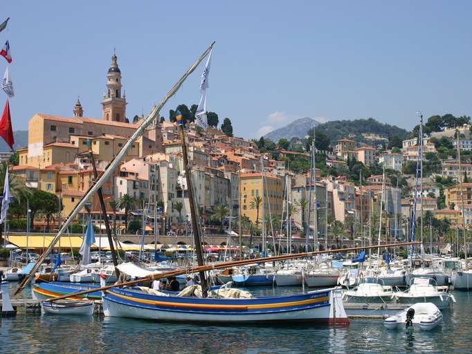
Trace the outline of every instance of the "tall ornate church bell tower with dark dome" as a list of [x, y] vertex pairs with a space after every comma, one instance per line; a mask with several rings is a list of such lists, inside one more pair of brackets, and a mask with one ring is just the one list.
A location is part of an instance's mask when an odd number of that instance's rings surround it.
[[107, 73], [107, 91], [102, 99], [102, 119], [110, 122], [125, 122], [126, 96], [121, 94], [121, 71], [118, 68], [117, 59], [114, 53]]

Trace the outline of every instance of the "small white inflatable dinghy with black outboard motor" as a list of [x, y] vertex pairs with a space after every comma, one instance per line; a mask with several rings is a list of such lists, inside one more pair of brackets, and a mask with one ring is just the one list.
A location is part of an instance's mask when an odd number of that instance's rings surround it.
[[388, 329], [413, 328], [418, 326], [422, 330], [432, 330], [442, 322], [442, 313], [431, 302], [419, 302], [406, 310], [390, 316], [383, 321], [383, 326]]

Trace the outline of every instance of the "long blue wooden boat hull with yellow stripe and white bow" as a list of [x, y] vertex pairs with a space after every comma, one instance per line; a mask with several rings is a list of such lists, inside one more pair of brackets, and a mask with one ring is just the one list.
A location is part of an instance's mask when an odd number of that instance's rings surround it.
[[138, 288], [109, 288], [105, 316], [194, 322], [328, 322], [348, 324], [338, 288], [252, 299], [150, 295]]

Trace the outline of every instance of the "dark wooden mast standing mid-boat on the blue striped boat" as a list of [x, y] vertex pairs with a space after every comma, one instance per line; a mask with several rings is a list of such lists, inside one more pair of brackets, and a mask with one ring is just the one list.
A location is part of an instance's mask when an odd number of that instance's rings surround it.
[[[197, 221], [197, 208], [195, 207], [195, 201], [193, 196], [193, 185], [192, 185], [192, 174], [191, 168], [188, 162], [188, 152], [187, 145], [185, 144], [185, 131], [183, 130], [183, 117], [180, 111], [176, 112], [177, 124], [179, 125], [179, 134], [182, 145], [182, 155], [183, 155], [183, 169], [185, 169], [185, 179], [187, 180], [187, 192], [188, 192], [188, 201], [190, 204], [190, 214], [192, 216], [192, 229], [193, 229], [193, 239], [195, 243], [195, 251], [197, 252], [197, 263], [199, 267], [203, 267], [205, 263], [203, 262], [203, 250], [201, 248], [201, 238], [200, 238], [200, 228], [199, 222]], [[201, 270], [200, 275], [200, 284], [201, 292], [203, 297], [206, 297], [208, 291], [208, 285], [206, 281], [205, 271]]]

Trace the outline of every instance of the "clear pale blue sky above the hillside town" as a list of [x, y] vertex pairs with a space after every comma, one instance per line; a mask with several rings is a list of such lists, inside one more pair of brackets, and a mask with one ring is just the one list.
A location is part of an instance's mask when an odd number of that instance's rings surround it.
[[[149, 112], [213, 40], [208, 109], [237, 136], [309, 116], [472, 114], [471, 1], [5, 1], [14, 129], [34, 113], [101, 117], [113, 48], [129, 102]], [[6, 61], [0, 58], [0, 75]], [[201, 68], [165, 106], [199, 100]], [[6, 95], [0, 96], [4, 102]], [[3, 106], [3, 103], [0, 103]]]

